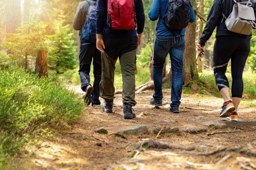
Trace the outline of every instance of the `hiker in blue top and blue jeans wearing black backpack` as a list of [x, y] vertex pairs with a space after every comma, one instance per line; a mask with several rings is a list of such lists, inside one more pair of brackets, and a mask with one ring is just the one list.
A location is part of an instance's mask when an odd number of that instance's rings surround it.
[[[184, 0], [185, 2], [186, 0]], [[153, 80], [154, 94], [150, 99], [151, 105], [161, 106], [163, 99], [163, 66], [166, 61], [166, 56], [169, 53], [172, 67], [172, 90], [170, 111], [179, 113], [180, 98], [183, 85], [183, 52], [185, 48], [185, 31], [186, 26], [190, 22], [195, 21], [195, 14], [190, 0], [186, 1], [186, 12], [177, 12], [180, 14], [178, 23], [164, 23], [164, 19], [168, 16], [168, 0], [153, 0], [151, 9], [148, 12], [148, 17], [151, 21], [157, 19], [156, 38], [154, 42], [153, 56]], [[166, 18], [168, 20], [168, 18]], [[186, 20], [184, 26], [175, 28], [180, 23]], [[168, 25], [168, 26], [167, 26]], [[169, 28], [172, 27], [172, 28]]]

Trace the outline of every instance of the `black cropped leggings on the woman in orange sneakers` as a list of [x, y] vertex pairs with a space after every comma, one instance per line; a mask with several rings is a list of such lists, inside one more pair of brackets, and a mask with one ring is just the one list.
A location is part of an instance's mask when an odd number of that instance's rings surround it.
[[241, 98], [243, 94], [243, 71], [250, 52], [250, 39], [250, 35], [241, 34], [218, 36], [214, 43], [212, 60], [215, 82], [219, 91], [224, 87], [229, 88], [225, 73], [227, 64], [231, 59], [232, 97]]

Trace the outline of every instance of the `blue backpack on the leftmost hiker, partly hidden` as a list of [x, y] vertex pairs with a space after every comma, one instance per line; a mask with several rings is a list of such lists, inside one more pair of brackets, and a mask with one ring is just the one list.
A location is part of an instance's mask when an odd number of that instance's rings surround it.
[[86, 0], [90, 6], [83, 26], [83, 37], [87, 42], [96, 43], [96, 0]]

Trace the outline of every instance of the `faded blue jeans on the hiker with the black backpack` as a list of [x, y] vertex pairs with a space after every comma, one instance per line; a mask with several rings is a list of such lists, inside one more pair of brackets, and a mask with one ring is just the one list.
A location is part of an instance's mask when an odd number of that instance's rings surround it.
[[172, 108], [178, 108], [183, 85], [183, 52], [185, 48], [184, 36], [157, 36], [154, 43], [153, 80], [155, 99], [163, 99], [163, 66], [169, 53], [172, 68]]

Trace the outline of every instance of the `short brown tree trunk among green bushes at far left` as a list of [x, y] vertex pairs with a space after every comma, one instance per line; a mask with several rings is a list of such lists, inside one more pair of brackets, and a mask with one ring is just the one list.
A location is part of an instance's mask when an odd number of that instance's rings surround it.
[[35, 61], [35, 73], [38, 77], [47, 77], [47, 50], [40, 50]]

